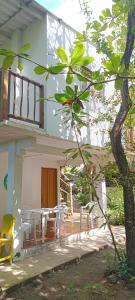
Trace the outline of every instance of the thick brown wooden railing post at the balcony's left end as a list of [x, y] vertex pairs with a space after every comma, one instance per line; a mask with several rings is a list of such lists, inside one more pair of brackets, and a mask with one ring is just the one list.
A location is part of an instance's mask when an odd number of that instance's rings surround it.
[[0, 76], [0, 120], [8, 120], [9, 113], [9, 71], [1, 70]]

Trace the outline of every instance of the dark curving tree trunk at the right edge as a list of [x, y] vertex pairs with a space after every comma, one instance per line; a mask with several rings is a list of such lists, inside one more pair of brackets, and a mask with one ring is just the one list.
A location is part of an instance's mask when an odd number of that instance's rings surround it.
[[[130, 1], [129, 1], [130, 2]], [[132, 28], [135, 26], [135, 5], [132, 5], [128, 13], [126, 47], [121, 63], [125, 69], [129, 69], [131, 56], [134, 49], [135, 34]], [[125, 230], [126, 230], [126, 250], [128, 265], [135, 274], [135, 202], [133, 194], [133, 180], [124, 148], [122, 147], [122, 128], [126, 116], [132, 106], [129, 96], [128, 79], [123, 80], [121, 89], [121, 106], [110, 133], [112, 152], [118, 165], [123, 186], [124, 210], [125, 210]]]

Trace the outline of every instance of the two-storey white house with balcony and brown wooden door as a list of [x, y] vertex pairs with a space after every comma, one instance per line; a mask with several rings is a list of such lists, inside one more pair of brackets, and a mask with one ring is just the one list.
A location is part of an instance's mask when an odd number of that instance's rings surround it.
[[[70, 51], [75, 34], [34, 0], [1, 1], [0, 48], [19, 52], [29, 42], [32, 60], [52, 65], [57, 60], [57, 47]], [[44, 76], [35, 75], [33, 66], [24, 60], [21, 74], [15, 64], [12, 71], [0, 71], [0, 212], [16, 216], [15, 253], [21, 251], [21, 209], [59, 203], [60, 167], [66, 161], [63, 151], [76, 147], [73, 132], [64, 130], [62, 116], [56, 116], [59, 105], [51, 100], [37, 102], [39, 97], [48, 99], [62, 90], [64, 75], [52, 76], [46, 82]], [[89, 109], [96, 111], [96, 104], [90, 103]], [[82, 142], [90, 143], [93, 163], [101, 163], [104, 136], [98, 128], [85, 129]], [[7, 191], [3, 185], [6, 174]]]

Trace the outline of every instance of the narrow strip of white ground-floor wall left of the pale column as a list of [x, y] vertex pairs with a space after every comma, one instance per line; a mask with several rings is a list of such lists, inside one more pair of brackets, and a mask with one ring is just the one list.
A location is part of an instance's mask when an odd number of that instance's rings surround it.
[[8, 169], [8, 153], [0, 153], [0, 218], [6, 212], [7, 191], [4, 188], [3, 180]]

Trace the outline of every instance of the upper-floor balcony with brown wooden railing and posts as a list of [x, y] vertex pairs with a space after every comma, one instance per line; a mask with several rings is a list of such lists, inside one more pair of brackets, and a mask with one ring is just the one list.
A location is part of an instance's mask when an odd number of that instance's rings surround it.
[[44, 128], [44, 86], [11, 70], [0, 70], [0, 121], [20, 120]]

